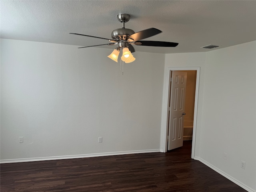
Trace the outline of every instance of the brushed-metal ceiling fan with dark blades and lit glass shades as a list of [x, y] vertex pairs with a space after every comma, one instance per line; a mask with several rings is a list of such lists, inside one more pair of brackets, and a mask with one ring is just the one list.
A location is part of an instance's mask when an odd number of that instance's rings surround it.
[[124, 27], [125, 23], [130, 20], [129, 14], [120, 13], [117, 15], [117, 19], [120, 22], [122, 22], [122, 28], [115, 29], [114, 31], [112, 31], [111, 33], [112, 39], [78, 34], [78, 33], [70, 33], [70, 34], [100, 38], [100, 39], [108, 40], [110, 42], [108, 44], [92, 45], [92, 46], [85, 46], [85, 47], [79, 47], [79, 48], [94, 47], [94, 46], [101, 46], [101, 45], [118, 45], [118, 47], [115, 48], [114, 51], [108, 56], [110, 59], [114, 60], [115, 62], [117, 62], [118, 60], [118, 55], [121, 48], [123, 49], [123, 54], [121, 57], [122, 61], [124, 61], [125, 63], [133, 62], [135, 58], [133, 57], [132, 53], [135, 52], [135, 49], [132, 45], [157, 46], [157, 47], [176, 47], [178, 45], [178, 43], [174, 43], [174, 42], [141, 41], [142, 39], [159, 34], [162, 31], [156, 28], [149, 28], [149, 29], [142, 30], [140, 32], [135, 33], [134, 30], [127, 29]]

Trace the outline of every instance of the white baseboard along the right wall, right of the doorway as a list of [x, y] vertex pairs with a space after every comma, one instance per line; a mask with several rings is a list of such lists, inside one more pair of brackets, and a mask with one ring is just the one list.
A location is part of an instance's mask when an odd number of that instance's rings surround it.
[[222, 176], [226, 177], [227, 179], [229, 179], [230, 181], [234, 182], [235, 184], [237, 184], [238, 186], [242, 187], [243, 189], [245, 189], [248, 192], [256, 192], [256, 190], [253, 190], [252, 188], [246, 186], [245, 184], [241, 183], [240, 181], [236, 180], [235, 178], [233, 178], [232, 176], [226, 174], [225, 172], [223, 172], [222, 170], [216, 168], [215, 166], [213, 166], [212, 164], [204, 161], [202, 158], [200, 157], [194, 157], [195, 160], [198, 160], [200, 162], [202, 162], [203, 164], [205, 164], [206, 166], [210, 167], [211, 169], [213, 169], [214, 171], [218, 172], [219, 174], [221, 174]]

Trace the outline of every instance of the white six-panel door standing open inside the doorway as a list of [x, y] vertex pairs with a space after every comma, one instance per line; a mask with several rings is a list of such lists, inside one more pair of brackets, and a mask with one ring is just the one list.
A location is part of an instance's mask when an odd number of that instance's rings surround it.
[[170, 113], [168, 128], [168, 150], [183, 146], [183, 116], [185, 115], [187, 73], [172, 71], [170, 89]]

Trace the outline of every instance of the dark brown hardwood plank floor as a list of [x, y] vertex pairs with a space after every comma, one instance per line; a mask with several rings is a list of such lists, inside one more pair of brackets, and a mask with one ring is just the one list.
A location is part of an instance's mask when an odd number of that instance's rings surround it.
[[167, 153], [1, 164], [1, 192], [245, 192], [192, 160], [191, 142]]

